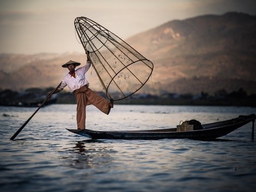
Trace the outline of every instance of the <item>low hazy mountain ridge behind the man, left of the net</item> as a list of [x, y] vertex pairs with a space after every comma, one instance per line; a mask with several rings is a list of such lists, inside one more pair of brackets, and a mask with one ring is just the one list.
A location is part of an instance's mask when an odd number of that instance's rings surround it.
[[[56, 87], [68, 73], [68, 69], [62, 67], [64, 63], [76, 60], [83, 65], [86, 58], [85, 53], [0, 54], [0, 88], [22, 90]], [[95, 72], [90, 75], [92, 71], [88, 71], [87, 75], [90, 83], [95, 84], [96, 90], [102, 90]]]

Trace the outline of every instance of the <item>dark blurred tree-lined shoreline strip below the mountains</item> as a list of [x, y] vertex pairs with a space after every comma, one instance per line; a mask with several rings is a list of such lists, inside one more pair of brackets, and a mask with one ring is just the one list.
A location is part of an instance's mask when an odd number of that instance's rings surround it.
[[[47, 94], [52, 88], [47, 89], [28, 89], [25, 92], [17, 92], [12, 90], [0, 91], [0, 105], [11, 106], [16, 103], [41, 103], [45, 100]], [[105, 97], [105, 92], [98, 92], [99, 95]], [[71, 92], [58, 92], [52, 96], [52, 100], [57, 104], [76, 104], [75, 95]], [[27, 104], [27, 105], [28, 105]], [[216, 92], [214, 96], [202, 92], [199, 95], [192, 94], [176, 94], [165, 92], [162, 95], [150, 94], [133, 94], [123, 100], [115, 101], [114, 104], [137, 104], [137, 105], [166, 105], [166, 106], [245, 106], [256, 107], [256, 95], [247, 95], [246, 91], [239, 89], [238, 91], [227, 92], [221, 90]], [[22, 107], [22, 106], [21, 106]], [[25, 106], [24, 106], [25, 107]]]

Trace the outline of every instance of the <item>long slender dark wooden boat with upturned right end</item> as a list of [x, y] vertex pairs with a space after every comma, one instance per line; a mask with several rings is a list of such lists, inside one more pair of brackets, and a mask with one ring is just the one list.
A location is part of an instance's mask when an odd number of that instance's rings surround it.
[[68, 129], [72, 133], [88, 137], [90, 139], [216, 139], [227, 135], [235, 129], [253, 122], [252, 126], [252, 139], [254, 139], [254, 121], [255, 114], [240, 115], [234, 119], [207, 123], [202, 125], [203, 129], [193, 131], [180, 131], [177, 132], [176, 128], [167, 129], [153, 129], [141, 131], [93, 131], [89, 129], [78, 130]]

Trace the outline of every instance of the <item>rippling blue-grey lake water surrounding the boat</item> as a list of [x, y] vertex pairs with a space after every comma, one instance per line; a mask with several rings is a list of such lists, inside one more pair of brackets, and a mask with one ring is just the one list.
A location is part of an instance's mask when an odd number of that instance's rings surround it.
[[[76, 128], [76, 105], [0, 107], [0, 191], [252, 191], [256, 141], [252, 123], [214, 141], [90, 140]], [[137, 130], [176, 127], [256, 113], [250, 107], [123, 106], [109, 115], [87, 107], [87, 128]]]

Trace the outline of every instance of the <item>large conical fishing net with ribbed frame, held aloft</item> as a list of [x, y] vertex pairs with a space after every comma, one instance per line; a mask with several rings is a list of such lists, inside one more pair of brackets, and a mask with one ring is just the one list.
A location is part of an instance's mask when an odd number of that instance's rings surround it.
[[110, 100], [129, 97], [147, 82], [153, 63], [117, 35], [86, 17], [75, 19], [75, 29]]

